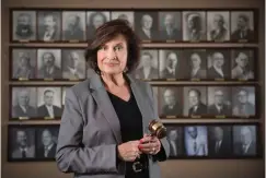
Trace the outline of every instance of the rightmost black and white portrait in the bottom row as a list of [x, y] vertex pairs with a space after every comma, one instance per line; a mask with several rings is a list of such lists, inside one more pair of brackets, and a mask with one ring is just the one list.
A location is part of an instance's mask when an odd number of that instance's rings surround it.
[[254, 156], [257, 154], [256, 126], [233, 126], [233, 152], [236, 156]]

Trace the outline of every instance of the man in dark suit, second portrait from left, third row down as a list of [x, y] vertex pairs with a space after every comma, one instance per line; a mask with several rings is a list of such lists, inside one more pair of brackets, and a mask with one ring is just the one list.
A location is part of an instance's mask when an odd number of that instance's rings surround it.
[[44, 104], [38, 107], [39, 117], [55, 118], [61, 116], [61, 108], [54, 105], [55, 94], [55, 91], [51, 88], [44, 91]]

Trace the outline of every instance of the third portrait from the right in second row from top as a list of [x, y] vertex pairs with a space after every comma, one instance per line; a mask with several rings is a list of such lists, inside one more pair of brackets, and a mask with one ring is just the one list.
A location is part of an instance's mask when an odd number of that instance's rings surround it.
[[[184, 49], [184, 61], [187, 62], [187, 78], [190, 80], [203, 80], [207, 78], [206, 50], [205, 49]], [[182, 68], [184, 69], [184, 68]]]

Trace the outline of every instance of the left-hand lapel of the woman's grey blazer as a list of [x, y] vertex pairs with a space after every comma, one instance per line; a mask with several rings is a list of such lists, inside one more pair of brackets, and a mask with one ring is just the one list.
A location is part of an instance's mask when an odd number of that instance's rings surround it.
[[90, 88], [92, 90], [91, 94], [99, 106], [97, 108], [102, 111], [105, 119], [109, 123], [117, 143], [122, 143], [120, 123], [118, 117], [111, 103], [109, 96], [97, 74], [94, 74], [91, 78]]

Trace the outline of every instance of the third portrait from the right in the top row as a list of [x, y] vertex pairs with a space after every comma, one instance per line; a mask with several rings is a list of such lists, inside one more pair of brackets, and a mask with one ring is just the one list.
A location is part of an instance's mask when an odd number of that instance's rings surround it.
[[183, 40], [206, 40], [206, 12], [184, 11], [182, 17]]

